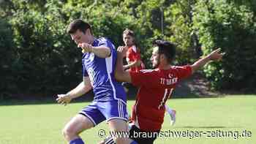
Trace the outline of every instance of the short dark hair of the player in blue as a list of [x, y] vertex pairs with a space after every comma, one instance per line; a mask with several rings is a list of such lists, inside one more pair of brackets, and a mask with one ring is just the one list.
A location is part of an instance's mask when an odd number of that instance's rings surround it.
[[[69, 26], [67, 28], [67, 33], [74, 34], [75, 31], [77, 31], [78, 29], [85, 34], [87, 29], [90, 29], [91, 31], [91, 26], [89, 25], [89, 23], [86, 23], [83, 20], [76, 19], [76, 20], [73, 20], [71, 23], [69, 23]], [[91, 31], [91, 34], [92, 34], [92, 31]]]

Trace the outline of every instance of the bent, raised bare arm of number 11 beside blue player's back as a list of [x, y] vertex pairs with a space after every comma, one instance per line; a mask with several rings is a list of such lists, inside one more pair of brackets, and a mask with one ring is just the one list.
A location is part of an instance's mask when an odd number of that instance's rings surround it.
[[129, 72], [124, 71], [123, 56], [124, 56], [124, 47], [118, 47], [115, 77], [116, 77], [116, 80], [118, 81], [132, 83], [131, 75], [129, 75]]

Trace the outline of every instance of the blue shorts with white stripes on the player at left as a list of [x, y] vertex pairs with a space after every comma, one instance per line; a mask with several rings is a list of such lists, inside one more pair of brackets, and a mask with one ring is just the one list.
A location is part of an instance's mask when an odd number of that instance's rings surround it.
[[90, 105], [84, 107], [79, 114], [89, 118], [94, 123], [94, 126], [102, 121], [107, 120], [108, 122], [114, 118], [128, 121], [127, 105], [121, 102], [121, 100], [93, 101]]

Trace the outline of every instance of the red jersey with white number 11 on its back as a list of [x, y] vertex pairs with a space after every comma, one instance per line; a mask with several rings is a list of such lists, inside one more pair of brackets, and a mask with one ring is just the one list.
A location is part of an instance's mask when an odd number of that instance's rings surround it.
[[167, 70], [144, 69], [130, 75], [132, 84], [139, 87], [132, 107], [132, 122], [143, 131], [157, 132], [164, 121], [165, 102], [178, 81], [192, 75], [192, 69], [174, 66]]

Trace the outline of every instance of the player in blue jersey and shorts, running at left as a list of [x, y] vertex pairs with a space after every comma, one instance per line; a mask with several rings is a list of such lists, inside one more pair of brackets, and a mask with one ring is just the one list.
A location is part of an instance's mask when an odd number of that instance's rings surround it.
[[[107, 121], [111, 132], [127, 132], [127, 97], [121, 83], [114, 77], [117, 52], [108, 39], [94, 38], [89, 23], [73, 20], [67, 33], [82, 48], [83, 82], [67, 94], [58, 94], [57, 102], [67, 105], [72, 99], [86, 94], [91, 88], [94, 101], [81, 110], [64, 127], [63, 134], [69, 144], [83, 144], [80, 132]], [[115, 137], [116, 143], [132, 143], [127, 137]]]

